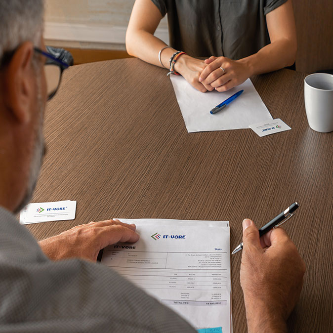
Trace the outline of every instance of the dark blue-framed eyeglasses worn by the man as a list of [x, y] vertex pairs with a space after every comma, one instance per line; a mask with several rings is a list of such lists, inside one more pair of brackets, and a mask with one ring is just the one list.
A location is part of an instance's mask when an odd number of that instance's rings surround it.
[[49, 101], [57, 92], [63, 71], [69, 67], [68, 64], [54, 57], [48, 52], [44, 52], [38, 47], [34, 47], [34, 51], [46, 57], [44, 64], [44, 72], [47, 87], [47, 100]]

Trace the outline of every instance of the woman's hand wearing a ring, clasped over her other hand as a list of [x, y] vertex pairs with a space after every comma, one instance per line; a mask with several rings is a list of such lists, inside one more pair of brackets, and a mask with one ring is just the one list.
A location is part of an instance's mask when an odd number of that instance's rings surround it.
[[[210, 85], [217, 91], [226, 91], [250, 78], [251, 71], [246, 61], [211, 56], [205, 60], [206, 68], [201, 72], [199, 82]], [[221, 67], [224, 69], [221, 69]]]

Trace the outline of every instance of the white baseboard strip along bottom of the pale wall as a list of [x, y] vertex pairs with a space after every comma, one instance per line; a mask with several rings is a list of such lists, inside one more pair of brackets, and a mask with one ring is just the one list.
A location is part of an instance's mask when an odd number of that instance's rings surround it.
[[[91, 43], [124, 44], [126, 27], [94, 26], [72, 23], [45, 22], [44, 39]], [[166, 28], [157, 28], [155, 36], [168, 44]]]

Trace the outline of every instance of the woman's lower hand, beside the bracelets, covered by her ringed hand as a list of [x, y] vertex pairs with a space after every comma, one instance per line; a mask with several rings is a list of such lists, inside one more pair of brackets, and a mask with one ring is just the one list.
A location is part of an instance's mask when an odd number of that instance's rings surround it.
[[214, 88], [210, 84], [199, 82], [201, 72], [206, 68], [203, 60], [190, 57], [187, 54], [182, 54], [174, 65], [176, 72], [181, 74], [183, 78], [193, 87], [201, 92], [211, 91]]

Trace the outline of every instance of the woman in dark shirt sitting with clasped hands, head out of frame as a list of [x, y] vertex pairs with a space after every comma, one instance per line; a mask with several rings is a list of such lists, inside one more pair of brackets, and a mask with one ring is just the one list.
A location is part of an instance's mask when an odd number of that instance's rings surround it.
[[[166, 13], [167, 48], [154, 36]], [[126, 32], [127, 52], [153, 65], [169, 69], [185, 51], [171, 72], [202, 92], [291, 66], [296, 47], [291, 0], [136, 0]]]

